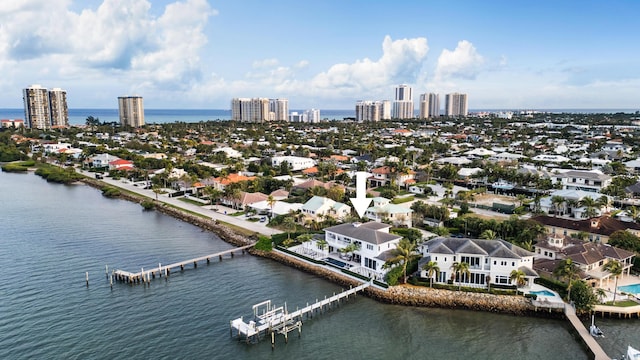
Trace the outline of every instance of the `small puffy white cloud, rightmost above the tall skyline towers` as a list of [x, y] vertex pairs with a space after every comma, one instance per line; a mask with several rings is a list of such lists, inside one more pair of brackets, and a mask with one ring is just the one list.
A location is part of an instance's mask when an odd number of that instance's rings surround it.
[[454, 78], [474, 79], [484, 64], [484, 58], [467, 40], [458, 42], [455, 50], [442, 50], [436, 65], [435, 81], [446, 81]]

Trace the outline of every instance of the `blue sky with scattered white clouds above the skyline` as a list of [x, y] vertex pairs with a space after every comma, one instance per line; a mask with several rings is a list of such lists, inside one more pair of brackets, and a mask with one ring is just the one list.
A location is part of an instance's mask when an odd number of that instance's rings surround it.
[[[11, 3], [11, 4], [10, 4]], [[16, 4], [12, 4], [16, 3]], [[352, 109], [462, 92], [471, 109], [640, 109], [640, 1], [21, 0], [0, 5], [0, 107]]]

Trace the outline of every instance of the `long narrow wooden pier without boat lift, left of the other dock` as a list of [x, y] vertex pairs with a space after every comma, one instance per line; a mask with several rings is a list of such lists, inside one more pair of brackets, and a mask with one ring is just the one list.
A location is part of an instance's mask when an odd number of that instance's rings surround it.
[[231, 254], [231, 257], [233, 257], [234, 256], [233, 253], [238, 251], [244, 254], [244, 251], [246, 249], [253, 247], [254, 245], [255, 244], [241, 246], [241, 247], [217, 252], [215, 254], [209, 254], [209, 255], [200, 256], [200, 257], [189, 259], [189, 260], [176, 262], [169, 265], [158, 264], [158, 267], [152, 268], [152, 269], [145, 270], [144, 268], [140, 268], [140, 271], [136, 273], [120, 270], [120, 269], [114, 270], [111, 274], [111, 282], [113, 283], [113, 280], [132, 283], [132, 284], [141, 283], [141, 282], [142, 283], [150, 282], [151, 279], [155, 279], [156, 276], [162, 277], [162, 275], [164, 276], [171, 275], [171, 271], [173, 269], [180, 268], [180, 270], [184, 270], [184, 267], [189, 264], [193, 264], [193, 267], [197, 268], [198, 262], [206, 261], [206, 263], [209, 264], [211, 262], [211, 259], [219, 258], [220, 260], [222, 260], [222, 257], [227, 254]]

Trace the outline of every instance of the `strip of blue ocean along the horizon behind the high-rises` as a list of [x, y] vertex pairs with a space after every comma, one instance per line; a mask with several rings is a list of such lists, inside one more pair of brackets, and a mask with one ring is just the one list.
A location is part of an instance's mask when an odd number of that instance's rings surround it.
[[[304, 112], [304, 110], [291, 109], [291, 112]], [[471, 109], [470, 114], [481, 112], [520, 112], [537, 111], [547, 113], [572, 113], [572, 114], [615, 114], [615, 113], [637, 113], [637, 109]], [[355, 117], [355, 109], [320, 109], [322, 120], [344, 120], [344, 118]], [[98, 118], [102, 122], [118, 122], [117, 108], [70, 108], [69, 124], [85, 124], [89, 116]], [[195, 123], [201, 121], [225, 121], [231, 119], [231, 110], [227, 109], [145, 109], [146, 124], [166, 124], [173, 122]], [[24, 119], [24, 109], [22, 108], [0, 108], [0, 119]]]

